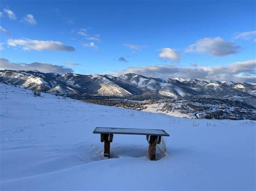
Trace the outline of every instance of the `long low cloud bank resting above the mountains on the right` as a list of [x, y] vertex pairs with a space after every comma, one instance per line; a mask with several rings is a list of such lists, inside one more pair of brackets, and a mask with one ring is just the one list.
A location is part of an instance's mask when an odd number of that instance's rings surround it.
[[182, 77], [200, 80], [256, 82], [256, 60], [234, 62], [228, 66], [205, 67], [178, 67], [176, 65], [129, 67], [118, 70], [112, 75], [119, 76], [126, 73], [135, 73], [149, 77]]

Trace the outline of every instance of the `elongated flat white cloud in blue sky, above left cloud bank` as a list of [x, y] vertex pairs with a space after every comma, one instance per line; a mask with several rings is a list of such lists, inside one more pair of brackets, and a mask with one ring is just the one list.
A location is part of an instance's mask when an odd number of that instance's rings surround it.
[[72, 46], [66, 46], [59, 41], [52, 40], [31, 40], [31, 39], [8, 39], [8, 45], [13, 47], [22, 47], [25, 51], [75, 51]]

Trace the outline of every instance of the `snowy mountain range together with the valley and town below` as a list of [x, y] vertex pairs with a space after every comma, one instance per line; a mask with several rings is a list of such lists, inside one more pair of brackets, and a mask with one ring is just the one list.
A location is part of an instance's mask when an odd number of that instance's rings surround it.
[[256, 83], [0, 70], [0, 82], [89, 103], [185, 118], [256, 120]]

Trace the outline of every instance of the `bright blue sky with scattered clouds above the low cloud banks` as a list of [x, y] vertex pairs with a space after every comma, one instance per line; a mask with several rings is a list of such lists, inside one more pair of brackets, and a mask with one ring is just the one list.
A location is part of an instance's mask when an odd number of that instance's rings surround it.
[[[255, 79], [255, 1], [1, 1], [0, 11], [0, 56], [9, 65], [151, 76], [152, 66], [196, 67], [206, 77]], [[210, 75], [237, 62], [254, 73]], [[163, 74], [177, 75], [185, 76]]]

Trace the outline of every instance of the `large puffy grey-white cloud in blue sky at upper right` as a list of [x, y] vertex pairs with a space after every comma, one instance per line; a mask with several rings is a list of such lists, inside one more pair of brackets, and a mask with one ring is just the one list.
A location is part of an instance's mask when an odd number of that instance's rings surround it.
[[240, 47], [232, 41], [225, 41], [220, 37], [203, 38], [185, 49], [185, 52], [209, 53], [214, 56], [225, 56], [239, 52]]

